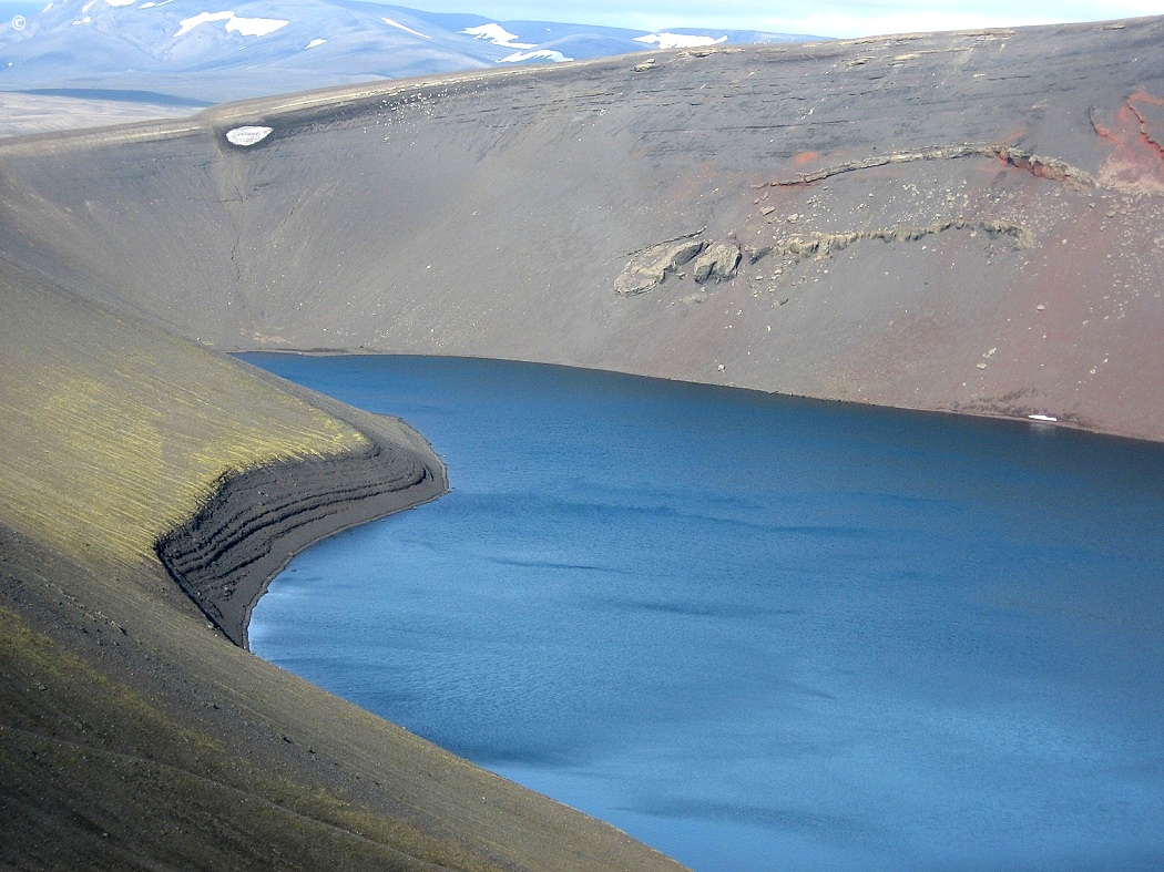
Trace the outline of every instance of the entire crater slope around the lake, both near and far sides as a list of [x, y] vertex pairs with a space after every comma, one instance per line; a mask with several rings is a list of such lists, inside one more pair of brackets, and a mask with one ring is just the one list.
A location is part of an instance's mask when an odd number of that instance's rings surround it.
[[0, 143], [0, 862], [665, 865], [230, 644], [294, 549], [446, 485], [400, 422], [219, 352], [1164, 438], [1162, 47], [701, 49]]

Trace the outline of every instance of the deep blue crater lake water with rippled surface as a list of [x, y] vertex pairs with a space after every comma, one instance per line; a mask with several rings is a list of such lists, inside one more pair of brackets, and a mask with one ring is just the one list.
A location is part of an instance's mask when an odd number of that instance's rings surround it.
[[453, 491], [251, 649], [700, 870], [1164, 864], [1164, 448], [463, 359], [246, 359]]

